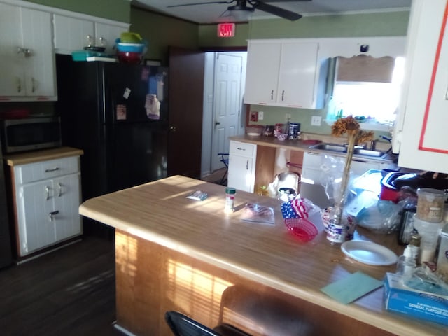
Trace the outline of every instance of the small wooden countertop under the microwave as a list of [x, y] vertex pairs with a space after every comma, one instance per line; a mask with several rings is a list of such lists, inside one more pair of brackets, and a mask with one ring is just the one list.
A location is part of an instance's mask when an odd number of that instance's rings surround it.
[[71, 147], [57, 147], [43, 149], [41, 151], [29, 151], [25, 153], [6, 154], [3, 160], [8, 166], [25, 165], [27, 163], [67, 158], [69, 156], [83, 155], [83, 150]]

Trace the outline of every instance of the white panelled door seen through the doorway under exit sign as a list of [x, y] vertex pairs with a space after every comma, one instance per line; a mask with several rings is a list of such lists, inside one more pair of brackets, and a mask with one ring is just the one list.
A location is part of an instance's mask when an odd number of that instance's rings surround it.
[[241, 113], [242, 62], [242, 56], [216, 53], [212, 171], [223, 167], [218, 153], [229, 153], [229, 137], [237, 134]]

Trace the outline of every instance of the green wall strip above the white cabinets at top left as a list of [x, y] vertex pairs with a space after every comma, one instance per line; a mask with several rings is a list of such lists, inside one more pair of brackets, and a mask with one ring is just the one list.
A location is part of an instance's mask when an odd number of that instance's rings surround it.
[[129, 0], [25, 0], [120, 22], [130, 22]]

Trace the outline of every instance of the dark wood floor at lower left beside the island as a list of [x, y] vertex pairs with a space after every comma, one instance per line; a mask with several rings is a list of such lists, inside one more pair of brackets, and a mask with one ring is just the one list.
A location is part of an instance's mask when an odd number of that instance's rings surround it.
[[85, 237], [0, 270], [0, 335], [123, 335], [111, 239]]

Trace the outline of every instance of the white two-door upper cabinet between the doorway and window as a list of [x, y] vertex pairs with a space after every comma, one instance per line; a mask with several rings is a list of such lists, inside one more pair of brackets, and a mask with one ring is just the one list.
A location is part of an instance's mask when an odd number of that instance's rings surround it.
[[317, 42], [249, 41], [244, 102], [318, 109], [320, 65]]

